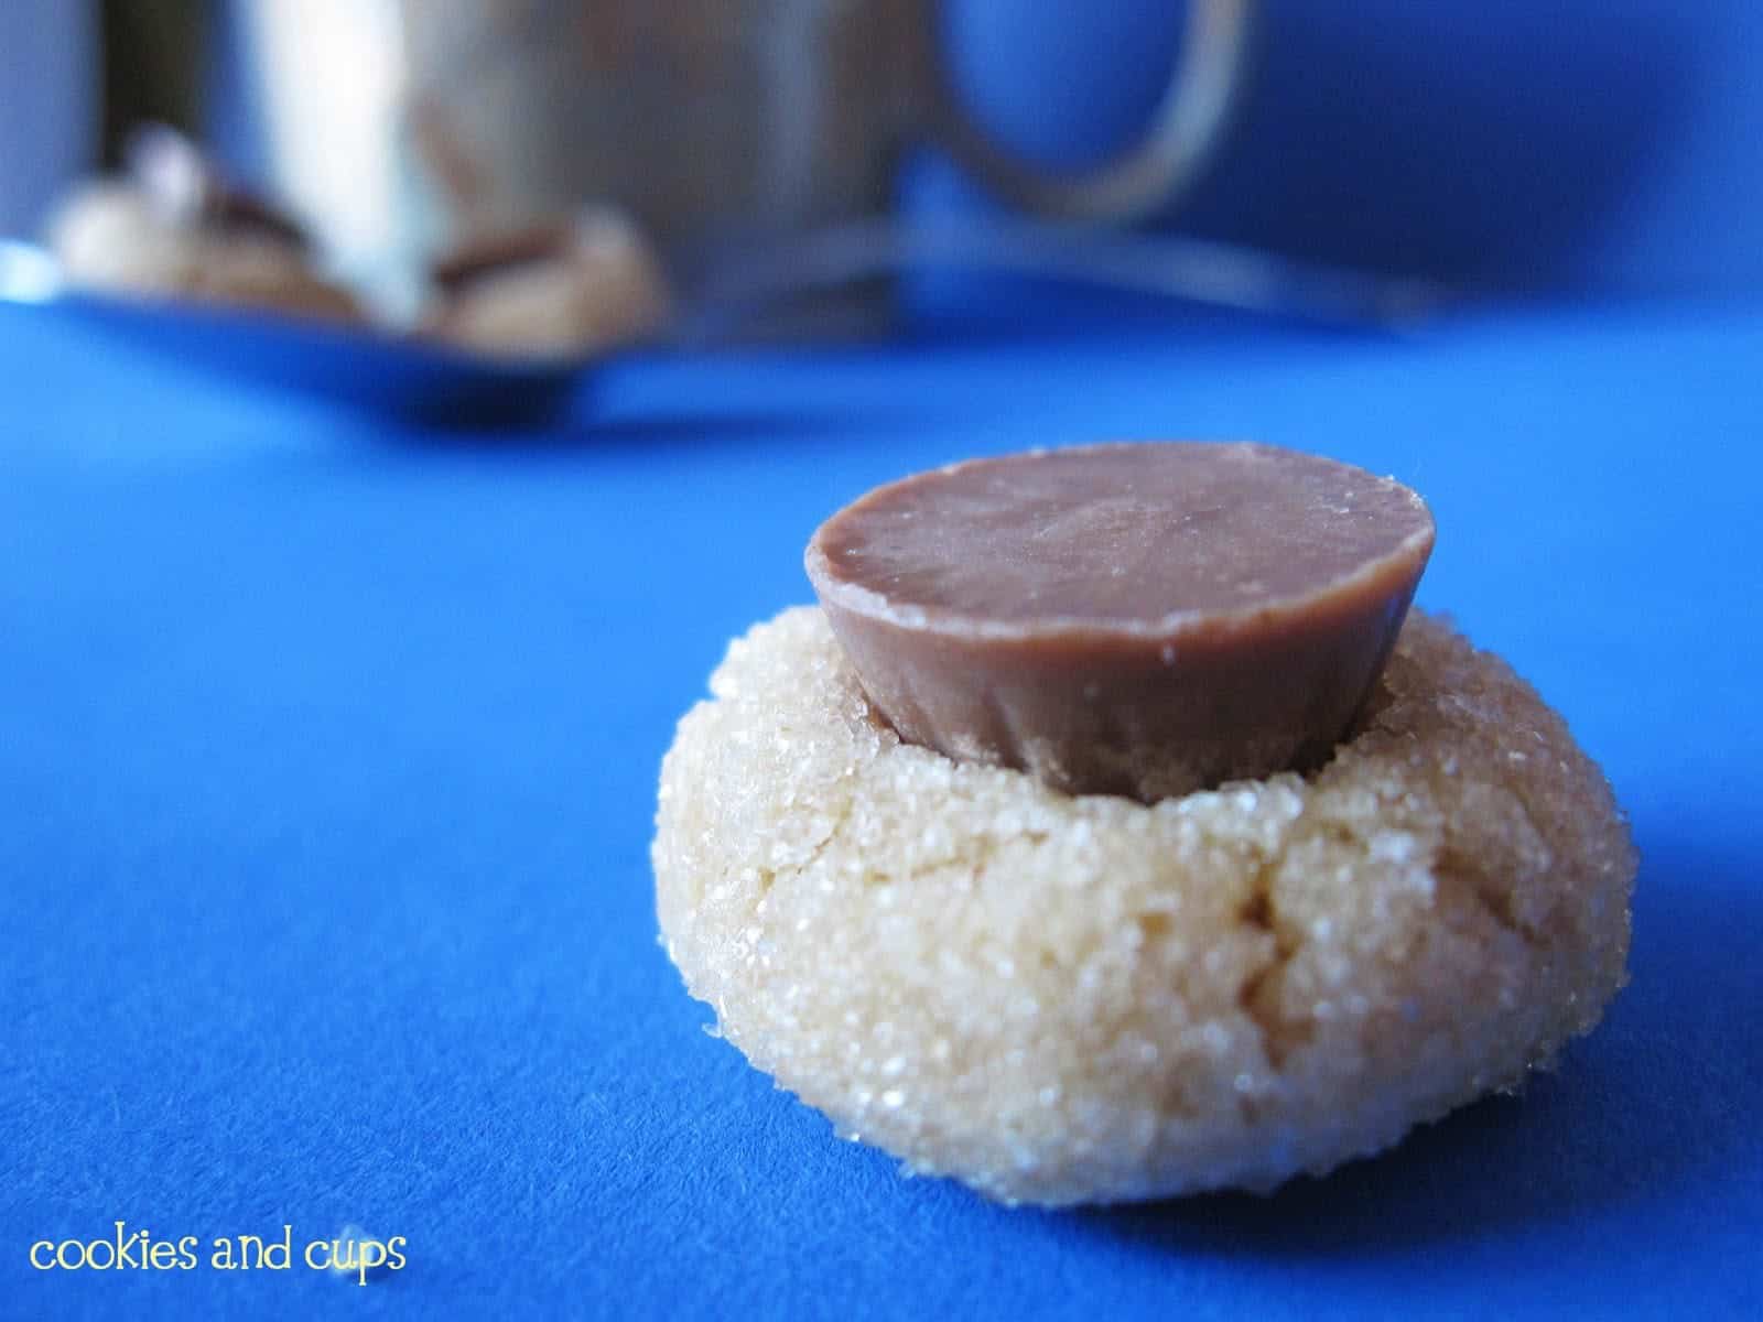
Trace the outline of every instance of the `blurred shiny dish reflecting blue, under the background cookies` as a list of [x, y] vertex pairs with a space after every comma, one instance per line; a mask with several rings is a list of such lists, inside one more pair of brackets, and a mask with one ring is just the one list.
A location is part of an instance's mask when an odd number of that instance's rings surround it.
[[71, 289], [46, 252], [7, 240], [0, 240], [0, 301], [30, 303], [185, 367], [428, 425], [547, 421], [601, 361], [502, 360], [257, 308]]

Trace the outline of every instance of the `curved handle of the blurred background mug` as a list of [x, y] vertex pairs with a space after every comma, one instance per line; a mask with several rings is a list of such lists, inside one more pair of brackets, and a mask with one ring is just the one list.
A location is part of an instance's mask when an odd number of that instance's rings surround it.
[[[1224, 137], [1245, 81], [1257, 0], [1188, 0], [1181, 53], [1144, 139], [1112, 160], [1058, 175], [993, 141], [961, 106], [938, 41], [931, 125], [961, 166], [1003, 197], [1067, 220], [1139, 220], [1179, 197]], [[936, 4], [929, 7], [936, 16]]]

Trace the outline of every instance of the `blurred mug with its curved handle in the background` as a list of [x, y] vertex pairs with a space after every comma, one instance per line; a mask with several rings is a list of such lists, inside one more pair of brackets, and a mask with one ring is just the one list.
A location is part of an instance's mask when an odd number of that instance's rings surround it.
[[1134, 219], [1216, 146], [1257, 7], [1188, 0], [1144, 139], [1060, 176], [961, 108], [940, 0], [238, 2], [272, 182], [358, 273], [584, 201], [673, 252], [779, 240], [883, 213], [920, 136], [1042, 213]]

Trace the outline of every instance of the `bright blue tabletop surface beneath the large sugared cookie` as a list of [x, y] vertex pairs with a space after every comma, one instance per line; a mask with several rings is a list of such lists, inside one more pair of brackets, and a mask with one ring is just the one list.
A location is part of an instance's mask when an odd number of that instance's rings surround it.
[[[0, 1315], [1758, 1315], [1759, 418], [1744, 307], [658, 356], [529, 437], [0, 312]], [[829, 511], [1128, 435], [1428, 495], [1421, 601], [1633, 814], [1634, 977], [1523, 1096], [1329, 1179], [1007, 1211], [700, 1031], [656, 770]], [[201, 1266], [30, 1266], [116, 1220]], [[298, 1264], [347, 1223], [405, 1269]], [[293, 1269], [208, 1266], [284, 1225]]]

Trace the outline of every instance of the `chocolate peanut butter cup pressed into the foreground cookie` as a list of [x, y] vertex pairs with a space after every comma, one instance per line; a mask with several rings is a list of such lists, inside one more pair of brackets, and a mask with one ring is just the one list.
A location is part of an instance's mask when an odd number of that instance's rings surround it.
[[807, 573], [903, 739], [1155, 800], [1308, 769], [1433, 545], [1396, 481], [1255, 444], [1114, 444], [882, 486]]

